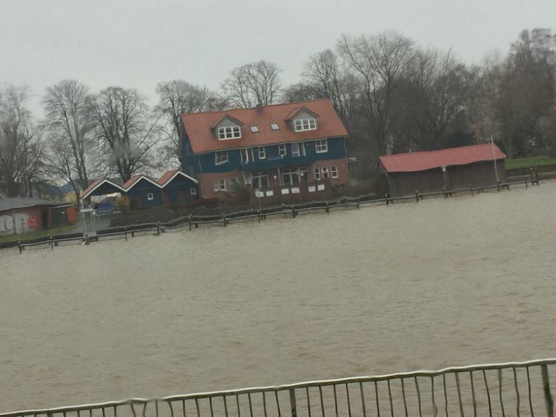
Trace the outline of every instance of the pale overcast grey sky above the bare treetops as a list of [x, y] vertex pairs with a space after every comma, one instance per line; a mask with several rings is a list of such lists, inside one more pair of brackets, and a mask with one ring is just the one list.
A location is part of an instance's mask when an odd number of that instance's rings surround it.
[[479, 63], [523, 28], [556, 26], [556, 0], [0, 0], [0, 22], [0, 83], [38, 97], [75, 78], [92, 90], [138, 88], [154, 103], [158, 81], [218, 88], [259, 59], [296, 82], [342, 33], [398, 31]]

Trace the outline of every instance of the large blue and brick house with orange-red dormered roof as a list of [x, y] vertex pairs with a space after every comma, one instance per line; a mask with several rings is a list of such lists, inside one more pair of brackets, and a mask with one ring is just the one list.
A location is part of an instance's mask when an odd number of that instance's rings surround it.
[[349, 179], [346, 136], [328, 99], [193, 113], [181, 118], [181, 165], [204, 198], [234, 183], [263, 195], [300, 184], [341, 186]]

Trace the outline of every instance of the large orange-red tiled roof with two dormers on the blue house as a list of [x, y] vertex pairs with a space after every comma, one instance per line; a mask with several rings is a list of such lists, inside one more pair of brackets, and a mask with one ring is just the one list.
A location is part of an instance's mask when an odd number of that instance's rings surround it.
[[[318, 129], [313, 131], [294, 132], [286, 119], [293, 111], [306, 108], [318, 115]], [[239, 139], [218, 140], [213, 135], [211, 126], [218, 123], [222, 117], [234, 117], [243, 123], [242, 137]], [[274, 104], [264, 106], [261, 113], [255, 108], [238, 108], [227, 111], [207, 111], [191, 113], [181, 117], [185, 126], [191, 147], [195, 154], [211, 152], [220, 149], [234, 149], [261, 145], [272, 145], [281, 142], [302, 142], [347, 136], [347, 131], [336, 114], [334, 106], [328, 99], [304, 101], [302, 103]], [[270, 124], [276, 123], [279, 130], [270, 129]], [[259, 132], [253, 133], [251, 126], [257, 126]]]

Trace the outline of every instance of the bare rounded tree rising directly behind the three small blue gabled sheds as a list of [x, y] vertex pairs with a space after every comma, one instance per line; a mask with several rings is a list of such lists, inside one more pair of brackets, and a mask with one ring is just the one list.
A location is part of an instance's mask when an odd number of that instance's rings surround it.
[[92, 106], [96, 136], [108, 170], [127, 181], [139, 170], [156, 167], [156, 123], [145, 99], [133, 89], [108, 87]]

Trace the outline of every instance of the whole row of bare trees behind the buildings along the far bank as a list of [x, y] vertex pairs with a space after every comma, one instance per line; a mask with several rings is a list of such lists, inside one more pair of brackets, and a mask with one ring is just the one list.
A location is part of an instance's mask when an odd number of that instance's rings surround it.
[[[481, 47], [481, 45], [477, 45]], [[135, 89], [63, 80], [42, 96], [44, 120], [26, 107], [27, 88], [0, 88], [0, 192], [31, 195], [51, 183], [77, 194], [92, 179], [149, 173], [179, 161], [183, 113], [329, 98], [363, 172], [387, 153], [469, 145], [492, 136], [509, 158], [556, 156], [556, 35], [522, 31], [504, 56], [466, 65], [398, 33], [343, 35], [310, 56], [300, 81], [261, 60], [231, 70], [220, 90], [158, 83], [149, 108]]]

